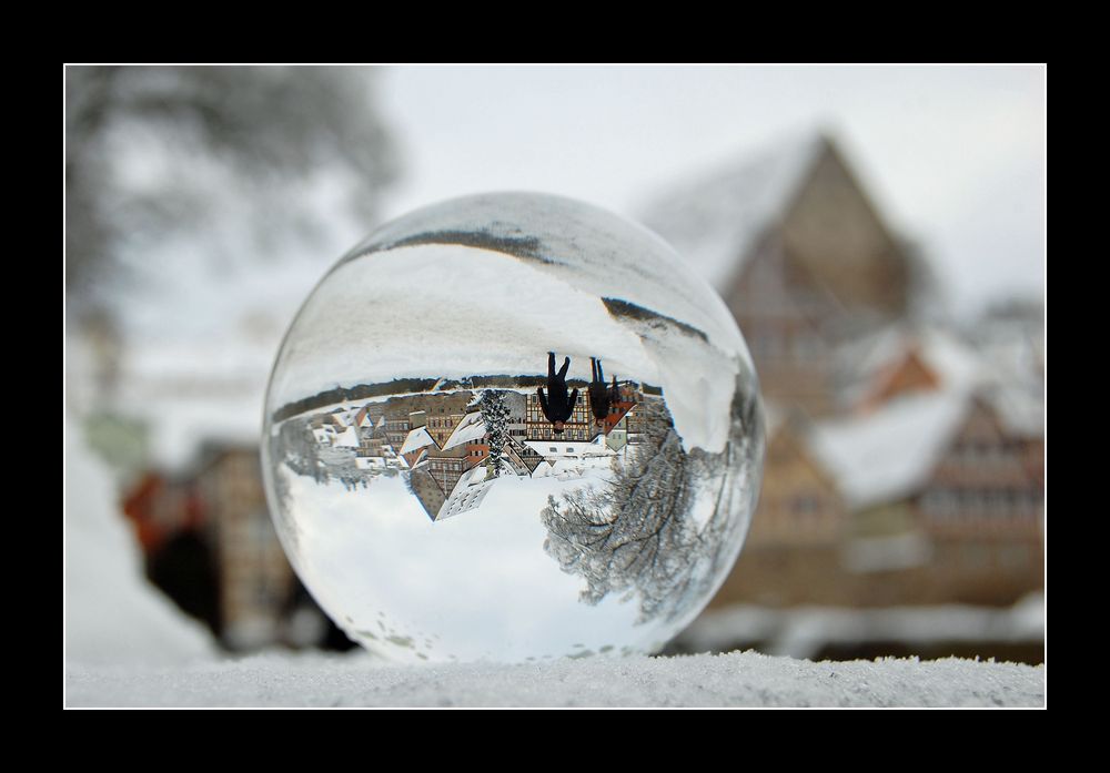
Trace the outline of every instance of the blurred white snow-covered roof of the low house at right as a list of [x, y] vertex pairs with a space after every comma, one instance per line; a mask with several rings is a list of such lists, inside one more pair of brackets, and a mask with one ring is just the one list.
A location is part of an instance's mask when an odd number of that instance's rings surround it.
[[959, 391], [902, 397], [867, 416], [815, 425], [811, 448], [849, 506], [895, 500], [926, 481], [969, 404]]

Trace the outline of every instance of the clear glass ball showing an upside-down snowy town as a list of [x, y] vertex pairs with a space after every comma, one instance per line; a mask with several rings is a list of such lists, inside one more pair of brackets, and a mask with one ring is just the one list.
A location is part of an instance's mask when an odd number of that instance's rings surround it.
[[662, 240], [541, 194], [389, 223], [312, 292], [266, 395], [282, 545], [402, 661], [656, 651], [709, 601], [764, 429], [731, 315]]

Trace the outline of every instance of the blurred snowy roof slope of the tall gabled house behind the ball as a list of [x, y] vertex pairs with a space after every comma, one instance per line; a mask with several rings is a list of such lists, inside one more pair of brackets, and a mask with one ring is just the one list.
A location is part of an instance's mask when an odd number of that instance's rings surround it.
[[642, 220], [724, 292], [764, 228], [785, 214], [826, 146], [821, 135], [793, 138], [708, 179], [676, 185]]

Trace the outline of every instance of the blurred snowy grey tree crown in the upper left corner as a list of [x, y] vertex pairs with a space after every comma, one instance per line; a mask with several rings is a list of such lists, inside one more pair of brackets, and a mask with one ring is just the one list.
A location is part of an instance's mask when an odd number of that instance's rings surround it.
[[[369, 69], [70, 67], [70, 305], [164, 271], [158, 251], [218, 265], [317, 245], [344, 210], [371, 222], [396, 176]], [[334, 255], [330, 256], [332, 260]]]

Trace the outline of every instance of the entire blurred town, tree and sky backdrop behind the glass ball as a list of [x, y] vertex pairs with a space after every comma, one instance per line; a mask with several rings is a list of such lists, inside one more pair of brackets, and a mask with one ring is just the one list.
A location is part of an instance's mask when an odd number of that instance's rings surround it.
[[351, 647], [266, 511], [281, 337], [376, 224], [534, 190], [670, 241], [759, 373], [669, 652], [1043, 662], [1046, 133], [1043, 67], [68, 67], [68, 657]]

